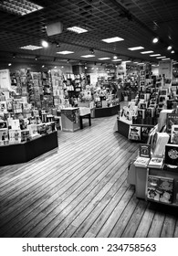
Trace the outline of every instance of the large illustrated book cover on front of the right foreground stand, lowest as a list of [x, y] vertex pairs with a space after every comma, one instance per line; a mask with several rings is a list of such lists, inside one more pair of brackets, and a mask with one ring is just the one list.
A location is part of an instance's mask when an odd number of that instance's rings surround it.
[[147, 198], [157, 202], [173, 203], [173, 178], [163, 176], [148, 176]]

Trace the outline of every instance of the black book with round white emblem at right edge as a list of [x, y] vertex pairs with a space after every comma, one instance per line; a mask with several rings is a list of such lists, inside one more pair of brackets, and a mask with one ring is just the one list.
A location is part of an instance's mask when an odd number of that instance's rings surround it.
[[178, 144], [165, 145], [165, 164], [178, 165]]

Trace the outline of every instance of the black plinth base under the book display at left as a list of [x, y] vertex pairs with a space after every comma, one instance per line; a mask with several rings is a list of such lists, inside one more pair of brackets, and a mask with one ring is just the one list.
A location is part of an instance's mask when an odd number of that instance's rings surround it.
[[26, 143], [0, 146], [0, 166], [26, 163], [56, 147], [58, 147], [57, 131]]

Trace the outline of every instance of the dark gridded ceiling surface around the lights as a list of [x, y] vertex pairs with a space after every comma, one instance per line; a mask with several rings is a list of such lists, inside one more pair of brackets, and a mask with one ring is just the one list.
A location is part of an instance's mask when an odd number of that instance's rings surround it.
[[[8, 0], [10, 1], [10, 0]], [[5, 1], [0, 1], [4, 4]], [[24, 2], [16, 1], [19, 5]], [[167, 58], [178, 60], [178, 0], [32, 0], [43, 9], [26, 16], [7, 13], [0, 7], [0, 60], [9, 61], [13, 54], [18, 59], [53, 61], [84, 61], [114, 63], [118, 59], [141, 62], [146, 60], [157, 63], [159, 59], [141, 54], [152, 50]], [[47, 37], [46, 26], [60, 21], [62, 33]], [[87, 33], [76, 34], [68, 27], [87, 28]], [[159, 43], [152, 44], [152, 38], [158, 36]], [[108, 37], [122, 37], [116, 43], [101, 41]], [[41, 45], [41, 40], [49, 42], [48, 48], [26, 50], [26, 45]], [[59, 43], [59, 47], [57, 47]], [[169, 45], [175, 51], [167, 50]], [[144, 49], [131, 51], [128, 48], [142, 46]], [[95, 57], [85, 59], [81, 56], [94, 50]], [[68, 55], [57, 54], [69, 50]], [[110, 58], [99, 60], [99, 58]]]

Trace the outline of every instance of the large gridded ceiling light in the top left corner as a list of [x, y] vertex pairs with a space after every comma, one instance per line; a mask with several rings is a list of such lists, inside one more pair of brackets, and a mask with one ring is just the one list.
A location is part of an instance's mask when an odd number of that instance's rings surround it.
[[26, 16], [30, 13], [43, 9], [42, 6], [36, 5], [26, 0], [5, 0], [1, 2], [2, 3], [0, 3], [0, 9], [3, 9], [7, 13], [15, 14], [18, 16]]

